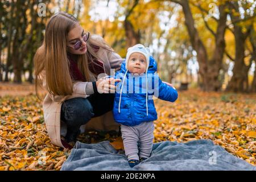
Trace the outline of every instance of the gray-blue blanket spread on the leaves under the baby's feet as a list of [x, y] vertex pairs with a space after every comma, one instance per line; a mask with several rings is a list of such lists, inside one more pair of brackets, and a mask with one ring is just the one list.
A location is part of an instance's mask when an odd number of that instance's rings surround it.
[[77, 142], [61, 170], [256, 170], [256, 167], [229, 154], [212, 140], [187, 143], [154, 143], [150, 158], [130, 168], [123, 151], [108, 141], [85, 144]]

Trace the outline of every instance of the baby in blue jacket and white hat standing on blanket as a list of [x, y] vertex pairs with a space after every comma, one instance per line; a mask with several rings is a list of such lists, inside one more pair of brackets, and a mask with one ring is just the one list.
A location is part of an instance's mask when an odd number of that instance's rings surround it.
[[[126, 61], [115, 73], [115, 77], [122, 81], [116, 83], [113, 115], [121, 124], [123, 146], [130, 167], [151, 155], [154, 121], [157, 119], [152, 96], [170, 102], [177, 99], [176, 89], [162, 82], [155, 73], [156, 69], [156, 61], [150, 56], [149, 48], [137, 44], [127, 50]], [[156, 86], [150, 90], [148, 86], [152, 84]], [[154, 92], [149, 92], [152, 90]]]

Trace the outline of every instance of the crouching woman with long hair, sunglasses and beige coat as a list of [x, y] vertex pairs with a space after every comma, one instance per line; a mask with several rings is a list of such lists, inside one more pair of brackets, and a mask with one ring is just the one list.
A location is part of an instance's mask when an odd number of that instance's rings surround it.
[[38, 85], [47, 90], [43, 113], [53, 144], [71, 148], [86, 123], [86, 128], [118, 131], [112, 115], [114, 94], [109, 92], [119, 80], [97, 76], [110, 75], [110, 68], [119, 70], [122, 62], [101, 36], [83, 30], [74, 16], [60, 12], [49, 19], [34, 65], [36, 94]]

